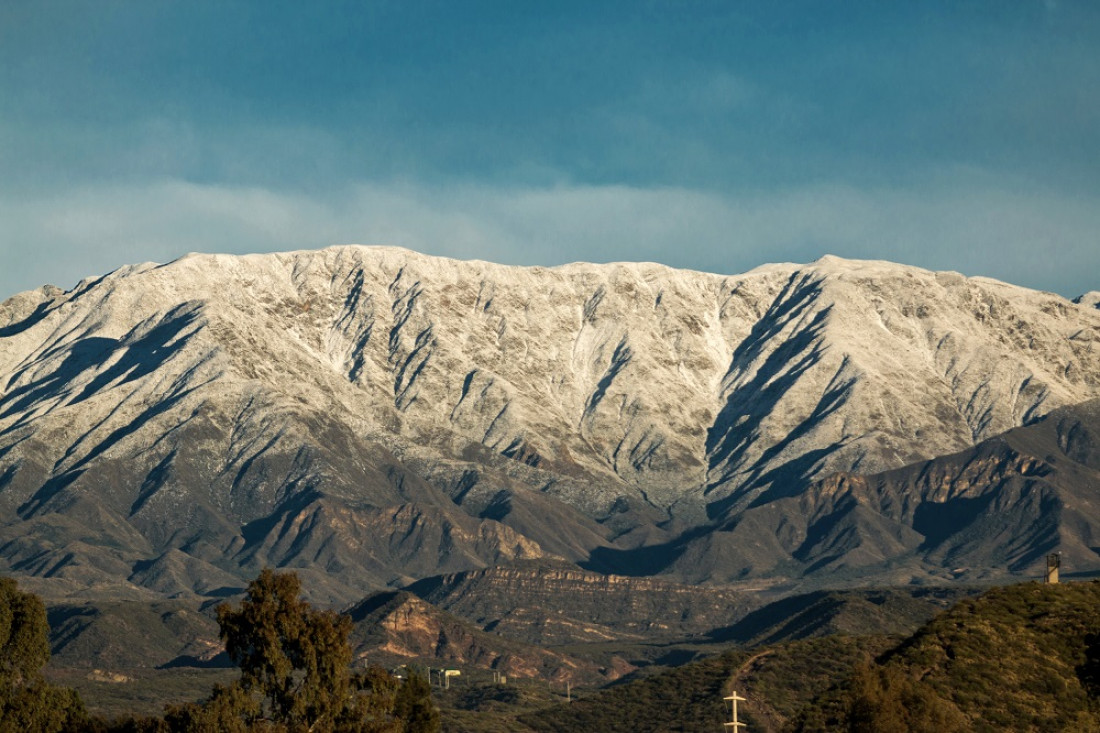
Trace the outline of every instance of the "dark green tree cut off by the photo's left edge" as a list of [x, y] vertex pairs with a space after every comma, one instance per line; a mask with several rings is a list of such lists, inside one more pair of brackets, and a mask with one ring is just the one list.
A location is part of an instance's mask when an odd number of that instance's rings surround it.
[[47, 685], [46, 609], [15, 581], [0, 578], [0, 733], [76, 730], [87, 721], [75, 690]]

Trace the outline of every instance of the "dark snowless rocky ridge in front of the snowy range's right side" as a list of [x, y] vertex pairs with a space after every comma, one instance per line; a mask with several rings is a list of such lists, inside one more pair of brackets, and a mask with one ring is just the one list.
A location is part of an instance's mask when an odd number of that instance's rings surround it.
[[[761, 549], [758, 538], [770, 544]], [[834, 583], [922, 572], [1000, 579], [1100, 571], [1100, 401], [958, 453], [879, 474], [836, 473], [761, 501], [678, 548], [674, 575], [827, 571]], [[944, 572], [947, 571], [947, 572]]]

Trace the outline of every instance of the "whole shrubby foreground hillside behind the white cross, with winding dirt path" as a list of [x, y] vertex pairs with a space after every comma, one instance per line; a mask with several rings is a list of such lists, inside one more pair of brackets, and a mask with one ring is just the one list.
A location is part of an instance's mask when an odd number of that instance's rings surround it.
[[1100, 581], [993, 589], [904, 641], [729, 650], [519, 720], [540, 733], [721, 730], [732, 689], [757, 732], [1100, 733]]

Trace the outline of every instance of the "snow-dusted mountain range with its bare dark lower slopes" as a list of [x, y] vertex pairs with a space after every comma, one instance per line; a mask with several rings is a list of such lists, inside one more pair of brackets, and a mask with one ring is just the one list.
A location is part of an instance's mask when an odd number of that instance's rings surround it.
[[[0, 305], [0, 561], [111, 594], [277, 565], [344, 601], [549, 556], [785, 572], [706, 560], [726, 554], [711, 530], [1100, 396], [1097, 349], [1084, 302], [833, 258], [135, 265]], [[790, 555], [770, 530], [757, 555]], [[883, 555], [916, 541], [880, 534]]]

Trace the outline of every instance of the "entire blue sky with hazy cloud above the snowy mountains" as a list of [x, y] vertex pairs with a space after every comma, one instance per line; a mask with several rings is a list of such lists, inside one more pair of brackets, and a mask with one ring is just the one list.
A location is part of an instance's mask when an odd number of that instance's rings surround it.
[[0, 297], [189, 251], [1100, 289], [1100, 4], [0, 3]]

